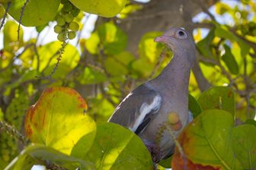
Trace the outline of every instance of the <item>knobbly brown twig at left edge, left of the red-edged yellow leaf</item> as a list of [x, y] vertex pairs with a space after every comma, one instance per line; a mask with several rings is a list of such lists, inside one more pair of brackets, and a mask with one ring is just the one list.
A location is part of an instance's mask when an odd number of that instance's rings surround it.
[[8, 124], [5, 121], [0, 121], [0, 131], [5, 131], [8, 134], [11, 134], [12, 137], [15, 139], [21, 141], [23, 144], [27, 144], [28, 140], [26, 137], [24, 137], [23, 134], [21, 134], [16, 128], [11, 126], [11, 124]]

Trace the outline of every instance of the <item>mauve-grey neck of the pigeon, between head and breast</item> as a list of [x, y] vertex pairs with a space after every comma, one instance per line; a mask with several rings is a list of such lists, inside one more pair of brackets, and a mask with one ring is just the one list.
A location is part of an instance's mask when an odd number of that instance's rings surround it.
[[159, 82], [158, 87], [168, 88], [173, 94], [188, 93], [190, 69], [194, 64], [194, 54], [188, 53], [187, 55], [191, 56], [179, 56], [174, 54], [162, 73], [156, 77], [156, 79], [162, 81]]

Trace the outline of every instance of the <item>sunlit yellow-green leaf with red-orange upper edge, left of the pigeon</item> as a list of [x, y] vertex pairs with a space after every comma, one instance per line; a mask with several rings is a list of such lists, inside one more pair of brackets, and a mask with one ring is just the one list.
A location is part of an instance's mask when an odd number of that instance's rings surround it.
[[69, 154], [85, 134], [95, 133], [94, 121], [85, 114], [85, 100], [75, 90], [52, 87], [27, 111], [25, 131], [32, 143]]

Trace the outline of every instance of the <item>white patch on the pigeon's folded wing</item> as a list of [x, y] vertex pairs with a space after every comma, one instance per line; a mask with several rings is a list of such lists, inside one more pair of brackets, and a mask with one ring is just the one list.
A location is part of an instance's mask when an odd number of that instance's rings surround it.
[[157, 112], [158, 109], [160, 108], [161, 100], [161, 96], [157, 95], [154, 97], [152, 103], [148, 104], [147, 102], [144, 102], [139, 109], [139, 117], [136, 118], [136, 121], [133, 124], [133, 126], [129, 128], [130, 131], [136, 131], [136, 129], [139, 127], [139, 124], [142, 123], [146, 115], [149, 114], [152, 110], [155, 110]]

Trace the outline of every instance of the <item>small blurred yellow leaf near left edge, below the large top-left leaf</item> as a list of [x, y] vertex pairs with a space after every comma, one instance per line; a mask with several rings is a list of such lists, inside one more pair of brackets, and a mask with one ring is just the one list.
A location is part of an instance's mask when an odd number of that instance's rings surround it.
[[18, 24], [13, 20], [6, 22], [4, 27], [4, 49], [8, 52], [14, 52], [23, 46], [23, 30], [20, 30], [20, 39], [18, 40]]

